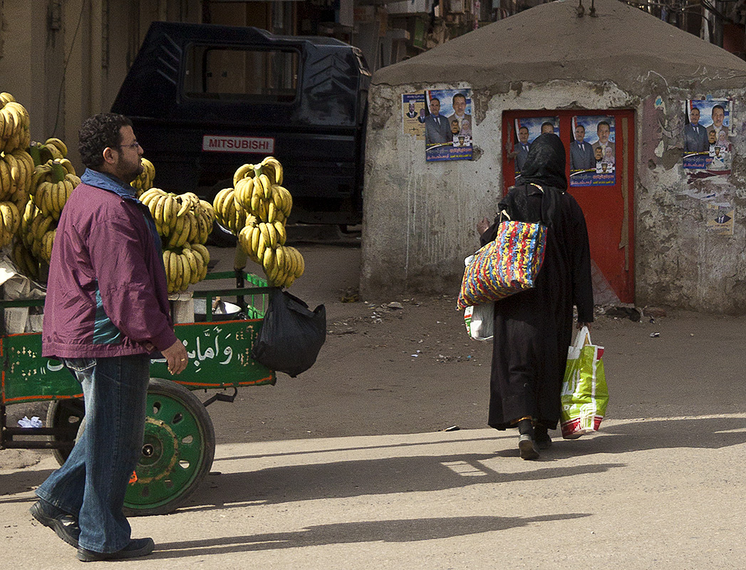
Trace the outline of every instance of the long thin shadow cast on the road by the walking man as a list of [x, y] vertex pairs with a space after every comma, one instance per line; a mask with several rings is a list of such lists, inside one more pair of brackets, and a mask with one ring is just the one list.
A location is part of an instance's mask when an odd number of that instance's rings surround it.
[[289, 533], [226, 536], [219, 539], [166, 542], [156, 546], [152, 558], [180, 558], [206, 554], [266, 551], [348, 544], [351, 542], [415, 542], [488, 533], [548, 521], [580, 519], [589, 513], [567, 513], [533, 517], [461, 516], [436, 519], [396, 519], [389, 521], [319, 524]]

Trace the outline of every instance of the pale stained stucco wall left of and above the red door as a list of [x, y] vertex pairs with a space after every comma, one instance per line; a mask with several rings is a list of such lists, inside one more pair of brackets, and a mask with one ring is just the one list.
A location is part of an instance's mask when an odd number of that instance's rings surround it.
[[502, 195], [502, 113], [514, 109], [630, 108], [616, 87], [552, 81], [472, 92], [474, 160], [426, 163], [424, 143], [401, 128], [401, 94], [466, 84], [372, 88], [366, 145], [361, 287], [375, 298], [407, 290], [454, 293], [463, 258], [478, 247], [477, 221]]

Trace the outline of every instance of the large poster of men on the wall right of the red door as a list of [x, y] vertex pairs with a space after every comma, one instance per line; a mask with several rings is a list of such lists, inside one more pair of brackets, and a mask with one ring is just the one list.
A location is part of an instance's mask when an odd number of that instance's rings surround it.
[[709, 175], [730, 174], [733, 101], [688, 99], [684, 104], [683, 167]]

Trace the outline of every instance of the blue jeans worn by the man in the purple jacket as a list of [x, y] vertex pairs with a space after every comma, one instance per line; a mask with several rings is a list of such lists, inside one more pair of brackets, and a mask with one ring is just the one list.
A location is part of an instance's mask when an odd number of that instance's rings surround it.
[[65, 358], [63, 364], [83, 386], [85, 430], [37, 495], [78, 516], [83, 548], [116, 552], [130, 542], [122, 506], [142, 453], [150, 357]]

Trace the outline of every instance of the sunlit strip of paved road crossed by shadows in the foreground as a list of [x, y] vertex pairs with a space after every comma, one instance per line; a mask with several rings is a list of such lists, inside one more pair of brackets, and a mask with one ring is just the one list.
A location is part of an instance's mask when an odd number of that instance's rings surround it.
[[[219, 445], [187, 507], [132, 519], [137, 569], [736, 569], [744, 415], [610, 420], [517, 457], [493, 430]], [[0, 470], [0, 566], [79, 568], [32, 523], [46, 457]]]

